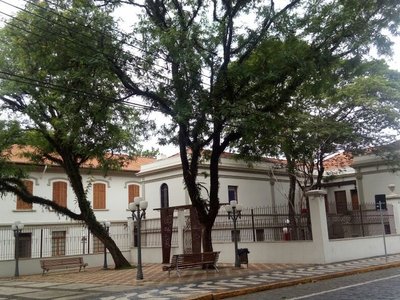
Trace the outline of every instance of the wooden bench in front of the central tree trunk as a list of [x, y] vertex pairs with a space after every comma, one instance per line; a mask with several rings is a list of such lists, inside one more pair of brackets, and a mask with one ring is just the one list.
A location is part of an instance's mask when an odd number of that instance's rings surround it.
[[171, 264], [169, 266], [163, 266], [163, 271], [168, 271], [168, 276], [171, 270], [176, 270], [176, 273], [180, 277], [180, 270], [205, 267], [206, 271], [209, 266], [212, 266], [216, 272], [218, 272], [217, 261], [219, 258], [219, 252], [204, 252], [204, 253], [190, 253], [190, 254], [175, 254], [171, 258]]

